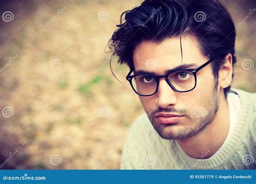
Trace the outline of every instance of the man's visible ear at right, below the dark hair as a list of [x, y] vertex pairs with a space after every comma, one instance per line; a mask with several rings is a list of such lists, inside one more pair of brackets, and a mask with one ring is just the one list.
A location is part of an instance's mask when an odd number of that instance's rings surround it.
[[221, 88], [230, 86], [232, 82], [232, 55], [228, 53], [225, 57], [223, 65], [219, 69], [219, 85]]

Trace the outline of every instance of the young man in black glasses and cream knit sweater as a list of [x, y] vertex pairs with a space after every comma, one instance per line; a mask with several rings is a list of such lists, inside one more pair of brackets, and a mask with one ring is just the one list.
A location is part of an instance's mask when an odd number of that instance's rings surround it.
[[144, 1], [121, 19], [109, 45], [146, 111], [121, 168], [255, 169], [256, 95], [231, 89], [235, 27], [224, 5]]

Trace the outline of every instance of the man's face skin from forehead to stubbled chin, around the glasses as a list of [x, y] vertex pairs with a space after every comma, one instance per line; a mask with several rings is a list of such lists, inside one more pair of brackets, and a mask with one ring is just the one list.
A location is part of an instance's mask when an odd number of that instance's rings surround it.
[[[145, 70], [164, 75], [174, 67], [195, 64], [192, 68], [197, 68], [209, 60], [200, 52], [195, 38], [183, 37], [181, 41], [182, 63], [178, 37], [167, 38], [161, 43], [143, 41], [137, 45], [133, 52], [135, 72]], [[207, 65], [197, 72], [197, 86], [192, 91], [174, 91], [165, 79], [161, 78], [156, 94], [139, 98], [154, 129], [162, 138], [186, 139], [212, 122], [218, 110], [218, 91], [218, 82], [214, 79], [211, 65]], [[161, 112], [163, 114], [160, 114]]]

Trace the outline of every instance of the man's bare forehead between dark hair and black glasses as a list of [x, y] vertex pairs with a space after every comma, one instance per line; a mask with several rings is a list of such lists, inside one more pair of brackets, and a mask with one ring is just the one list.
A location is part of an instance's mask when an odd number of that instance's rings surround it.
[[166, 70], [184, 64], [204, 63], [198, 41], [194, 37], [182, 37], [183, 62], [181, 63], [181, 50], [179, 37], [167, 38], [160, 43], [143, 41], [133, 51], [133, 64], [135, 70], [146, 70], [156, 74], [163, 74]]

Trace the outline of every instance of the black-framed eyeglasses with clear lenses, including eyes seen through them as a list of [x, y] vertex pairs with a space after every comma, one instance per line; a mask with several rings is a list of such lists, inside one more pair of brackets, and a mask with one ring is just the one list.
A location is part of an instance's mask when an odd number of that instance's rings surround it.
[[126, 76], [131, 84], [132, 89], [140, 96], [152, 96], [157, 93], [159, 87], [159, 79], [165, 78], [169, 86], [180, 93], [185, 93], [193, 90], [197, 86], [197, 72], [207, 66], [213, 59], [204, 63], [198, 68], [193, 69], [174, 69], [165, 75], [154, 74], [134, 74], [134, 69], [131, 69]]

